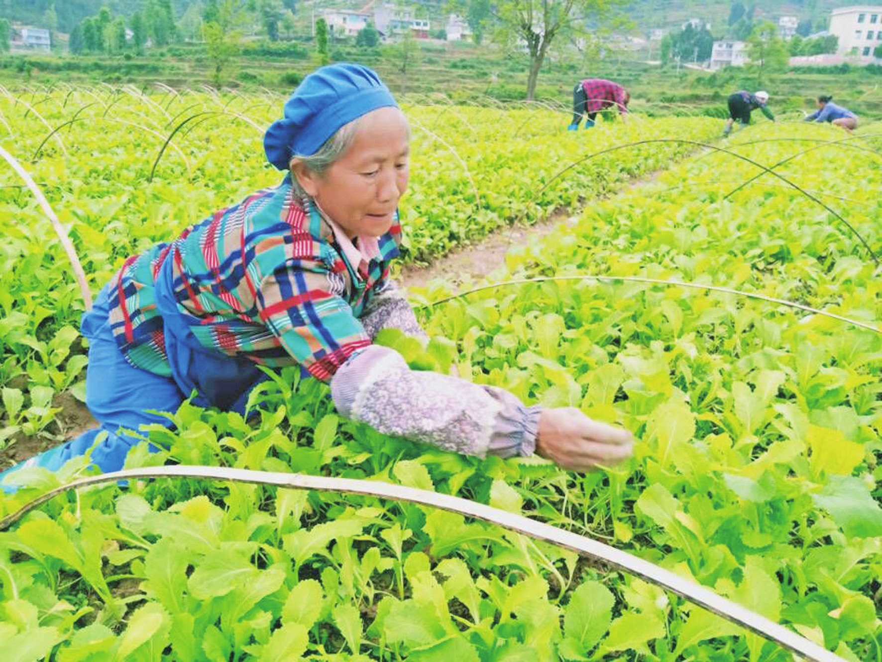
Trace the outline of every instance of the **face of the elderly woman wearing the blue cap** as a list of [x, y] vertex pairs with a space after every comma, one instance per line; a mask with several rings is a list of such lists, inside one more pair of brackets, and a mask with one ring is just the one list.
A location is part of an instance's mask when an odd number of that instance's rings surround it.
[[380, 237], [392, 227], [392, 214], [407, 191], [408, 142], [399, 109], [372, 110], [363, 116], [347, 153], [322, 175], [295, 165], [295, 176], [349, 238]]

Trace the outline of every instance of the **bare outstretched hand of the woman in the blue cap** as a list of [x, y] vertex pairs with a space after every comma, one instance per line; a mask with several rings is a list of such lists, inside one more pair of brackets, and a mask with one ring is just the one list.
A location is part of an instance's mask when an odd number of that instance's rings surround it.
[[571, 471], [587, 471], [597, 464], [613, 464], [632, 453], [634, 440], [627, 430], [588, 418], [574, 407], [542, 410], [536, 453]]

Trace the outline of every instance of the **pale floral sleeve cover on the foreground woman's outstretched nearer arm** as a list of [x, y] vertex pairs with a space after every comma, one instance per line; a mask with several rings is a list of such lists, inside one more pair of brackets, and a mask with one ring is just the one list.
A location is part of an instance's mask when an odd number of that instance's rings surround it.
[[331, 380], [340, 414], [381, 433], [466, 455], [532, 455], [542, 407], [502, 388], [413, 371], [395, 350], [371, 345]]

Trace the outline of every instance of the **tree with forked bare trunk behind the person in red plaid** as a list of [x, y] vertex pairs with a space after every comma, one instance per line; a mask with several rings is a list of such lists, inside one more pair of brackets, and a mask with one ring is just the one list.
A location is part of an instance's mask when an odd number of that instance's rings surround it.
[[523, 42], [530, 57], [527, 99], [534, 99], [536, 81], [551, 44], [561, 34], [584, 34], [586, 22], [598, 18], [618, 0], [498, 0], [497, 37]]

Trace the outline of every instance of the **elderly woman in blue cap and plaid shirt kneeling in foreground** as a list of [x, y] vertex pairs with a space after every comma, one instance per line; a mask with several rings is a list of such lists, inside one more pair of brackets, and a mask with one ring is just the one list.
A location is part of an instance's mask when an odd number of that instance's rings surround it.
[[264, 138], [281, 184], [125, 261], [82, 322], [101, 427], [26, 464], [55, 470], [92, 448], [99, 469], [117, 470], [138, 443], [125, 430], [168, 425], [150, 410], [174, 411], [195, 390], [197, 404], [241, 412], [265, 377], [258, 365], [300, 365], [330, 382], [344, 416], [446, 450], [535, 451], [572, 470], [630, 455], [629, 433], [578, 410], [412, 372], [372, 344], [384, 327], [425, 336], [389, 280], [408, 140], [374, 71], [333, 64], [304, 79]]

